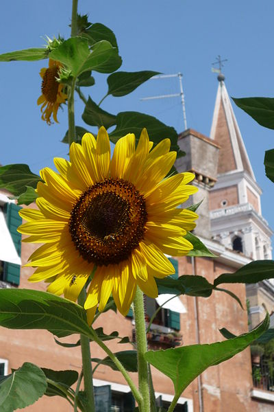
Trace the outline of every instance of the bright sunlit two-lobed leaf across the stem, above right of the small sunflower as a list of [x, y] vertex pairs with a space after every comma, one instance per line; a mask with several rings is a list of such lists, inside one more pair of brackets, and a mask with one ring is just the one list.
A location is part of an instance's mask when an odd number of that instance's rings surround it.
[[90, 70], [112, 73], [119, 69], [122, 63], [116, 47], [112, 47], [108, 41], [95, 43], [90, 52], [88, 42], [80, 37], [64, 41], [58, 49], [49, 54], [49, 57], [62, 62], [75, 78]]

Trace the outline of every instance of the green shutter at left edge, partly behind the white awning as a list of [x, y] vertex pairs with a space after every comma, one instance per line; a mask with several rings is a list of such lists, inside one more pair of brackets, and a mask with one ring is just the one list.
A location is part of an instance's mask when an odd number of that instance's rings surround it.
[[[18, 215], [20, 209], [21, 207], [14, 203], [5, 203], [4, 206], [5, 220], [18, 256], [21, 256], [21, 233], [17, 231], [17, 227], [22, 224], [22, 218]], [[20, 265], [4, 262], [3, 280], [16, 285], [20, 284]]]

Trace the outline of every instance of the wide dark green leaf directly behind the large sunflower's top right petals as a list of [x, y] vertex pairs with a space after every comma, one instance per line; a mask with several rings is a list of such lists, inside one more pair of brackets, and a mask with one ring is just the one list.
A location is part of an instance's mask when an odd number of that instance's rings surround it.
[[179, 146], [177, 145], [178, 135], [175, 128], [166, 126], [156, 117], [138, 112], [121, 112], [116, 116], [116, 124], [116, 129], [110, 133], [112, 143], [116, 143], [120, 137], [127, 135], [127, 133], [134, 133], [138, 140], [142, 129], [146, 128], [147, 133], [149, 133], [149, 139], [154, 144], [158, 144], [167, 137], [171, 139], [171, 150], [179, 151]]

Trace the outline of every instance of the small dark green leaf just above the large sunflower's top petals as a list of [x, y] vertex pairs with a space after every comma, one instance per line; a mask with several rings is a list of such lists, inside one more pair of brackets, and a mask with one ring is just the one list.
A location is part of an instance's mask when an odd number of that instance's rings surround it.
[[90, 126], [104, 126], [106, 129], [116, 124], [116, 116], [104, 111], [90, 97], [85, 106], [82, 119]]

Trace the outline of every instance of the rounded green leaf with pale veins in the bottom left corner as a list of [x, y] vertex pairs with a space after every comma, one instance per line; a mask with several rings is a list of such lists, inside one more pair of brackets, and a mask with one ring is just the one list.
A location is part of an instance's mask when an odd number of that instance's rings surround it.
[[44, 395], [47, 380], [40, 367], [25, 362], [0, 382], [1, 412], [13, 412], [32, 405]]

